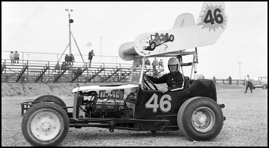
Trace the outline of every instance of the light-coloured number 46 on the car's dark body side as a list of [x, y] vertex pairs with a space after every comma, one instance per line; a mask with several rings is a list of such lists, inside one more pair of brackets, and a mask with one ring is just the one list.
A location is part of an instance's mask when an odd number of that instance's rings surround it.
[[[168, 99], [168, 100], [164, 100], [164, 99]], [[151, 104], [151, 102], [153, 101], [153, 104]], [[160, 100], [160, 104], [158, 104], [158, 95], [157, 94], [153, 94], [150, 99], [148, 100], [148, 102], [145, 104], [147, 109], [153, 109], [153, 112], [157, 112], [157, 109], [160, 107], [162, 112], [168, 112], [171, 109], [171, 103], [169, 102], [171, 101], [171, 96], [168, 94], [165, 94], [161, 97]], [[166, 105], [165, 105], [166, 104]], [[166, 106], [166, 107], [165, 107]]]

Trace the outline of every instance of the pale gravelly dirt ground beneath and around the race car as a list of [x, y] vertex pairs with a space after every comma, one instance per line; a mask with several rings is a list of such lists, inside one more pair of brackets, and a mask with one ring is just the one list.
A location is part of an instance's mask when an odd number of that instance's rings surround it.
[[[3, 86], [3, 84], [2, 84]], [[72, 89], [71, 89], [72, 90]], [[210, 142], [196, 142], [184, 137], [179, 131], [137, 132], [95, 127], [69, 128], [67, 137], [58, 146], [268, 146], [268, 92], [255, 89], [253, 94], [245, 87], [217, 85], [218, 103], [226, 116], [220, 134]], [[21, 102], [33, 101], [41, 96], [5, 96], [2, 88], [1, 146], [31, 146], [21, 131]], [[67, 106], [73, 106], [73, 96], [56, 95]]]

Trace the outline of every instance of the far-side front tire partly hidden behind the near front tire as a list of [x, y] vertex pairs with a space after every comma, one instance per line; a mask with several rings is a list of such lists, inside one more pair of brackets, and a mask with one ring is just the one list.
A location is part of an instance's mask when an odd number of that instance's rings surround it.
[[[36, 98], [34, 101], [46, 101], [46, 102], [54, 102], [55, 104], [59, 105], [60, 107], [66, 107], [66, 104], [62, 99], [59, 97], [53, 96], [53, 95], [44, 95]], [[33, 102], [32, 104], [38, 104], [37, 102]], [[64, 109], [66, 112], [68, 112], [68, 109]]]

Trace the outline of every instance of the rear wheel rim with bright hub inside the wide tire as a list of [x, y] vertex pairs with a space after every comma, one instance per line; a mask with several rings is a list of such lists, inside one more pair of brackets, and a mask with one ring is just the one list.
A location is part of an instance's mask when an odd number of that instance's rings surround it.
[[192, 127], [201, 133], [210, 131], [215, 125], [215, 114], [208, 107], [199, 107], [192, 113]]

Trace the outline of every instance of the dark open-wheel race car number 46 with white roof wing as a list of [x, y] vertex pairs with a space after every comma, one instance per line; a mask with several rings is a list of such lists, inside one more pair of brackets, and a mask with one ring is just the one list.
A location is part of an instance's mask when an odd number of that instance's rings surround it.
[[[221, 11], [218, 13], [221, 16], [217, 16], [224, 19], [222, 29], [218, 27], [213, 31], [201, 26], [204, 13], [215, 12], [212, 9]], [[217, 103], [216, 86], [212, 80], [196, 79], [197, 50], [185, 52], [185, 49], [214, 44], [226, 28], [227, 16], [224, 10], [224, 2], [205, 2], [196, 25], [192, 23], [192, 15], [179, 15], [173, 29], [165, 31], [175, 38], [173, 42], [167, 42], [167, 50], [162, 53], [156, 47], [154, 50], [158, 51], [153, 50], [144, 56], [142, 50], [145, 49], [136, 46], [136, 41], [141, 41], [139, 37], [134, 42], [122, 44], [119, 48], [121, 58], [133, 60], [129, 84], [74, 88], [74, 105], [71, 107], [53, 95], [22, 102], [22, 133], [25, 139], [33, 146], [55, 146], [64, 140], [70, 127], [100, 127], [110, 132], [115, 129], [153, 133], [179, 130], [191, 140], [214, 139], [221, 132], [226, 119], [222, 113], [225, 105]], [[182, 20], [184, 25], [181, 25]], [[203, 22], [207, 24], [207, 21]], [[187, 36], [184, 32], [190, 31], [191, 34], [194, 30], [197, 31], [196, 35], [207, 33], [206, 38], [199, 39], [196, 36], [196, 42], [186, 40], [187, 45], [177, 43], [180, 39], [184, 40], [182, 36]], [[182, 63], [182, 56], [185, 55], [193, 55], [193, 61]], [[190, 77], [185, 76], [183, 91], [158, 92], [158, 87], [143, 74], [147, 72], [144, 70], [146, 57], [176, 57], [179, 59], [179, 70], [190, 65], [194, 76], [192, 73]], [[136, 59], [142, 59], [141, 68], [135, 67]]]

